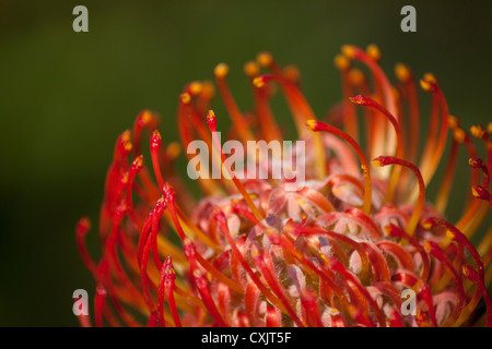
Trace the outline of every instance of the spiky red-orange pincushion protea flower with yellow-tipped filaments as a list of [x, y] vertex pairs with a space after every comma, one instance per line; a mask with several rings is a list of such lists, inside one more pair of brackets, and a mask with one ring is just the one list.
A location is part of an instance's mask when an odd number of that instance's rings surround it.
[[[413, 75], [398, 64], [391, 85], [379, 58], [375, 46], [342, 48], [335, 64], [343, 98], [325, 122], [302, 94], [298, 71], [282, 69], [270, 53], [245, 65], [255, 103], [248, 113], [229, 89], [227, 65], [215, 68], [233, 123], [230, 139], [282, 140], [269, 105], [280, 87], [306, 142], [306, 182], [295, 191], [282, 180], [199, 178], [204, 197], [195, 203], [173, 169], [179, 146], [164, 145], [159, 117], [141, 112], [118, 137], [107, 172], [99, 262], [85, 248], [89, 219], [77, 228], [81, 256], [97, 284], [95, 325], [490, 326], [492, 229], [477, 249], [470, 239], [492, 202], [491, 124], [465, 130], [448, 115], [436, 79], [425, 74], [420, 85], [430, 94], [431, 117], [419, 156]], [[210, 82], [185, 86], [177, 112], [185, 149], [195, 139], [216, 141], [213, 94]], [[356, 106], [363, 107], [366, 141]], [[141, 155], [144, 134], [153, 173]], [[448, 134], [449, 158], [430, 203], [425, 188]], [[485, 147], [485, 160], [473, 139]], [[447, 218], [461, 147], [469, 154], [471, 190], [464, 214]], [[211, 160], [223, 161], [224, 154]], [[405, 290], [417, 294], [414, 315], [402, 312]], [[91, 325], [89, 316], [80, 320]]]

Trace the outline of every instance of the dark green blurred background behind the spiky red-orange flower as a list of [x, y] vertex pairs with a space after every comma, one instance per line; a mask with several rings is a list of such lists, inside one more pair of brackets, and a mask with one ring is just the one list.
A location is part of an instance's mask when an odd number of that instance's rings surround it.
[[[332, 64], [340, 46], [375, 43], [391, 80], [400, 61], [417, 76], [431, 71], [466, 127], [491, 120], [492, 2], [430, 2], [1, 0], [0, 325], [78, 325], [72, 292], [93, 294], [94, 281], [74, 226], [82, 215], [97, 224], [116, 137], [149, 108], [162, 116], [163, 137], [176, 141], [183, 86], [212, 79], [219, 62], [230, 64], [232, 89], [248, 109], [243, 64], [271, 51], [300, 68], [323, 116], [340, 98]], [[89, 9], [89, 33], [72, 31], [77, 4]], [[405, 4], [417, 9], [417, 33], [400, 31]], [[449, 215], [460, 212], [466, 190], [462, 154], [460, 161]]]

